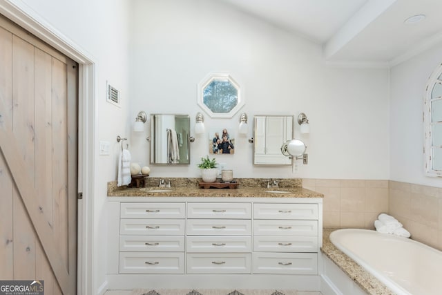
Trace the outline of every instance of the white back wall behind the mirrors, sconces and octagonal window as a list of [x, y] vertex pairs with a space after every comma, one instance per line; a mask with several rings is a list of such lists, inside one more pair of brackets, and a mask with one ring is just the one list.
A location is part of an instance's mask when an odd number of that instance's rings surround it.
[[[205, 115], [206, 130], [238, 129], [240, 113], [307, 114], [309, 164], [253, 166], [252, 136], [236, 136], [234, 155], [217, 155], [236, 177], [388, 179], [388, 70], [330, 68], [318, 44], [270, 26], [223, 3], [134, 0], [131, 122], [139, 111], [195, 115], [197, 84], [211, 72], [231, 73], [245, 106], [231, 119]], [[150, 127], [150, 126], [147, 126]], [[146, 128], [148, 129], [148, 128]], [[131, 136], [135, 162], [148, 164], [148, 136]], [[152, 176], [198, 177], [208, 135], [191, 144], [189, 166], [151, 166]]]

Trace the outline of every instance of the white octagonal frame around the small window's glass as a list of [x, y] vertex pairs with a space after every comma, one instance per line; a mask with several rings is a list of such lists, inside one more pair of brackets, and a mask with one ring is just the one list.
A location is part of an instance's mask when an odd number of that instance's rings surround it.
[[[206, 106], [206, 104], [204, 104], [204, 88], [206, 88], [206, 86], [211, 84], [211, 82], [213, 82], [214, 80], [227, 80], [238, 90], [238, 103], [228, 113], [213, 113], [213, 111], [208, 106]], [[242, 108], [242, 106], [244, 106], [245, 104], [244, 97], [242, 97], [240, 84], [238, 84], [238, 82], [236, 82], [235, 79], [233, 79], [233, 77], [231, 77], [231, 75], [227, 73], [210, 73], [204, 79], [202, 79], [200, 84], [198, 84], [197, 102], [198, 106], [200, 106], [200, 108], [202, 108], [204, 112], [206, 112], [210, 117], [214, 118], [231, 118], [233, 117], [233, 115], [238, 113], [240, 108]]]

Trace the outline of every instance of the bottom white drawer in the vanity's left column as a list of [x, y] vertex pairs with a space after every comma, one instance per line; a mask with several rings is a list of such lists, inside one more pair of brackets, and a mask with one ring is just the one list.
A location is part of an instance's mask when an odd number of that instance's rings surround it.
[[184, 274], [184, 253], [120, 252], [122, 274]]

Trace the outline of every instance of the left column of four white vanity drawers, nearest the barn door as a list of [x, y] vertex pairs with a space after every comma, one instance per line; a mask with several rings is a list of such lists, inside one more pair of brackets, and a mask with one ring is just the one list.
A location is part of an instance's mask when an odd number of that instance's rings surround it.
[[119, 272], [183, 274], [186, 204], [122, 202]]

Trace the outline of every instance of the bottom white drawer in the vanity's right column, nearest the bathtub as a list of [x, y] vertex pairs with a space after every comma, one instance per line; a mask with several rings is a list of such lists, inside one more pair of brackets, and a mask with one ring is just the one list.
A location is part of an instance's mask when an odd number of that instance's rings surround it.
[[253, 274], [318, 274], [318, 254], [255, 252]]

